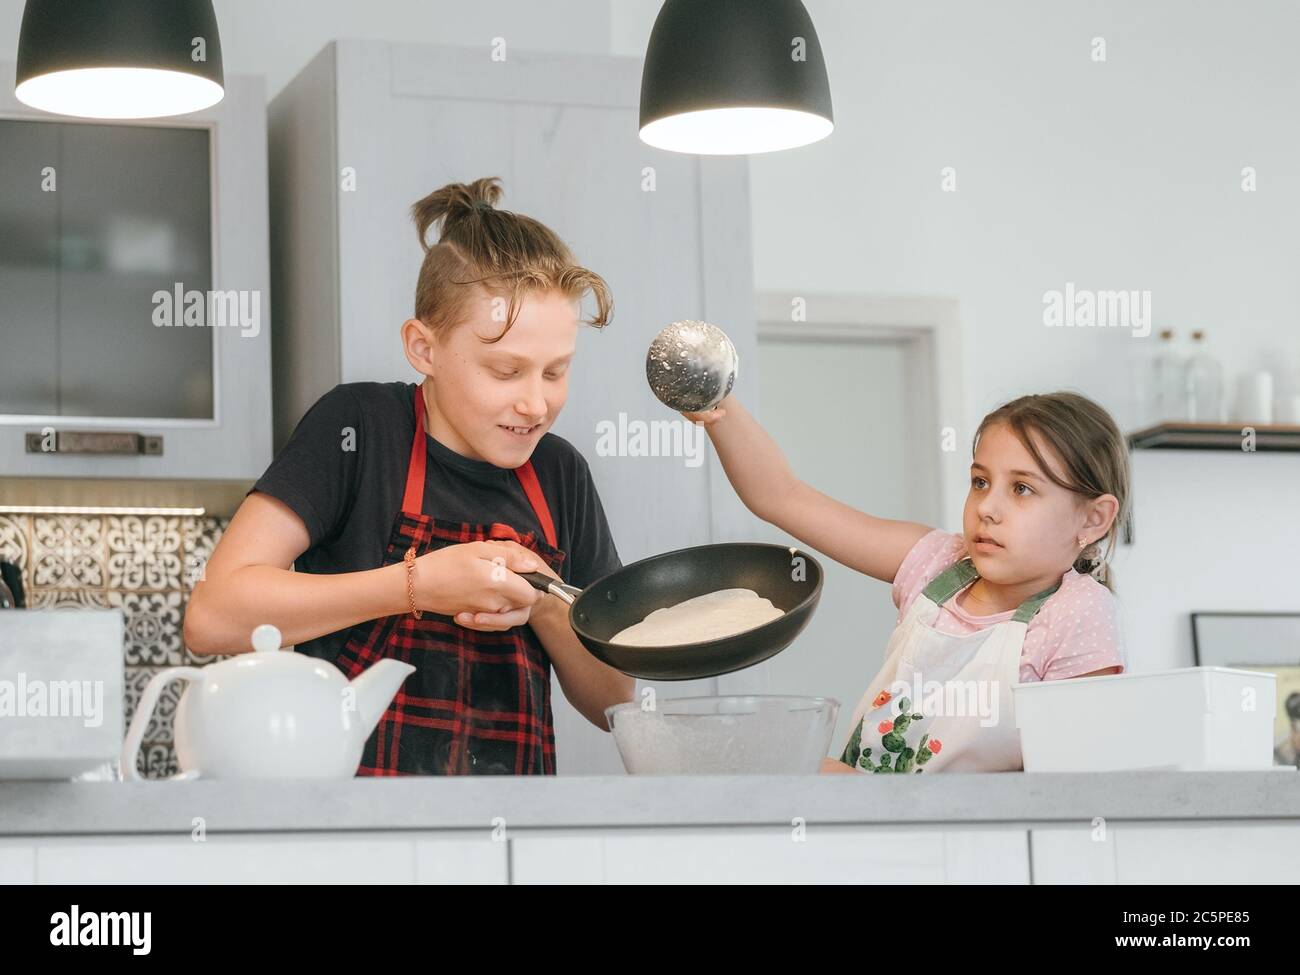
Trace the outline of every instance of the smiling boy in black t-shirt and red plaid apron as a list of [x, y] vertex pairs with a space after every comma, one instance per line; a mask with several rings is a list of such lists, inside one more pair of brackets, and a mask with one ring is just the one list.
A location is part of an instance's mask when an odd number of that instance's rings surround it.
[[552, 774], [551, 664], [601, 729], [633, 693], [577, 641], [566, 604], [515, 575], [586, 586], [620, 567], [586, 462], [547, 433], [578, 303], [594, 295], [598, 328], [612, 303], [551, 230], [495, 209], [500, 194], [477, 179], [415, 204], [425, 255], [402, 344], [425, 378], [321, 396], [185, 614], [199, 654], [247, 651], [273, 623], [348, 677], [384, 656], [415, 664], [359, 775]]

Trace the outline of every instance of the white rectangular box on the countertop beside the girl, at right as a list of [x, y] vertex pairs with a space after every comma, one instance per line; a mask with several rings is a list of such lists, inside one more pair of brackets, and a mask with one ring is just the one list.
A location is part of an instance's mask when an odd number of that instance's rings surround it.
[[1274, 767], [1273, 673], [1184, 667], [1013, 684], [1011, 697], [1026, 772]]

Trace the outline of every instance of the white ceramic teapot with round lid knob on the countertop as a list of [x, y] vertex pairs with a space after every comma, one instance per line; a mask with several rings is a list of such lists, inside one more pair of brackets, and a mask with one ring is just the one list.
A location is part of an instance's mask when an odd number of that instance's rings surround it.
[[122, 742], [122, 779], [135, 771], [164, 685], [190, 686], [176, 710], [176, 754], [188, 779], [350, 779], [365, 740], [415, 667], [380, 660], [351, 681], [325, 660], [281, 651], [280, 630], [252, 632], [254, 653], [207, 667], [168, 667], [140, 694]]

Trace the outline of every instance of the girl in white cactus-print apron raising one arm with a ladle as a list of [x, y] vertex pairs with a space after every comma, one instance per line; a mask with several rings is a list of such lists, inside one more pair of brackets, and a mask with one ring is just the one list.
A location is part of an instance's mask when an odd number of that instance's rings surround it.
[[1011, 684], [1124, 670], [1108, 560], [1128, 451], [1092, 400], [1020, 396], [984, 417], [961, 534], [872, 517], [803, 484], [734, 395], [684, 416], [706, 424], [750, 511], [893, 584], [884, 666], [823, 771], [1022, 768]]

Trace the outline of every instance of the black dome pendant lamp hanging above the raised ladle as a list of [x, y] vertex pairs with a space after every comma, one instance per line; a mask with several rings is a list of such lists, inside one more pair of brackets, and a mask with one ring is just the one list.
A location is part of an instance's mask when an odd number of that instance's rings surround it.
[[822, 44], [800, 0], [664, 3], [641, 73], [644, 142], [702, 155], [770, 152], [833, 127]]

